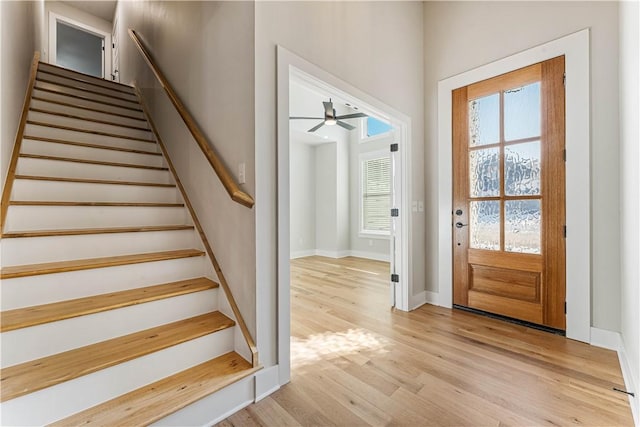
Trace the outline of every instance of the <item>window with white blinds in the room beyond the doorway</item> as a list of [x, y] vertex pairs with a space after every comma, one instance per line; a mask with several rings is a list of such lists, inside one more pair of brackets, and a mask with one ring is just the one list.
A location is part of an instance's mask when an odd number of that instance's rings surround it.
[[388, 155], [362, 160], [363, 233], [388, 234], [391, 219], [391, 159]]

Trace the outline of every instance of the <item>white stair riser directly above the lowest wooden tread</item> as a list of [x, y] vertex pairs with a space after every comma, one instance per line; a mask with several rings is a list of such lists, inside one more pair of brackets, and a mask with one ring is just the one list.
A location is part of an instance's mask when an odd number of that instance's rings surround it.
[[4, 425], [43, 425], [228, 353], [232, 328], [2, 403]]

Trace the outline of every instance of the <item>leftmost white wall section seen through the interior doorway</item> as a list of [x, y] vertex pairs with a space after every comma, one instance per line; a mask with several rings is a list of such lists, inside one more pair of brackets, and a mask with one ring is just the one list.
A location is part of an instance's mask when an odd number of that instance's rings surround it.
[[316, 150], [291, 141], [291, 255], [308, 256], [316, 251]]

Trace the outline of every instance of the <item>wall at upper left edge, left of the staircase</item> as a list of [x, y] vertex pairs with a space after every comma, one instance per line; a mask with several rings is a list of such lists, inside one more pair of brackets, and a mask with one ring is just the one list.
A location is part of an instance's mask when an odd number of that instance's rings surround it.
[[0, 179], [7, 177], [29, 81], [34, 42], [34, 5], [0, 2]]

